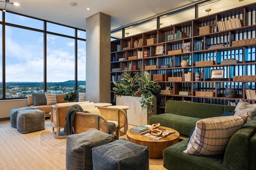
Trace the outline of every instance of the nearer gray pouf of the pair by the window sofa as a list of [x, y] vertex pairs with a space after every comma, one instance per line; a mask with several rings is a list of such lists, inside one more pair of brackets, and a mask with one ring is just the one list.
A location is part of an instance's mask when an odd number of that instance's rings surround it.
[[17, 129], [21, 133], [44, 130], [45, 112], [39, 109], [20, 110], [17, 113]]

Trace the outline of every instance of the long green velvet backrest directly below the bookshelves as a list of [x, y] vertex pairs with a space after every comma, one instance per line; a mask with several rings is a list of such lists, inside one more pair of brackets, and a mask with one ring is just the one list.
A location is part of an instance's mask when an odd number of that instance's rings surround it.
[[197, 117], [201, 119], [217, 117], [220, 116], [223, 112], [224, 105], [220, 104], [202, 104], [196, 102], [181, 102], [174, 100], [168, 100], [165, 107], [165, 113], [173, 113], [176, 115]]

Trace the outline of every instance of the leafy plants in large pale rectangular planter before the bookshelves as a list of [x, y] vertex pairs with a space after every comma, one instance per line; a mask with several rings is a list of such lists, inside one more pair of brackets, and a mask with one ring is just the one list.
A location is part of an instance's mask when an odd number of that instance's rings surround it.
[[[148, 123], [148, 117], [156, 114], [156, 95], [160, 86], [157, 82], [150, 80], [148, 72], [144, 72], [142, 77], [140, 73], [132, 76], [125, 72], [121, 81], [114, 82], [113, 88], [116, 95], [117, 105], [126, 105], [130, 108], [127, 110], [128, 123], [132, 125], [142, 125]], [[130, 112], [130, 113], [128, 113]], [[146, 115], [144, 115], [144, 112]], [[132, 116], [132, 114], [135, 114]], [[132, 117], [129, 119], [129, 117]], [[138, 123], [131, 123], [136, 120]]]

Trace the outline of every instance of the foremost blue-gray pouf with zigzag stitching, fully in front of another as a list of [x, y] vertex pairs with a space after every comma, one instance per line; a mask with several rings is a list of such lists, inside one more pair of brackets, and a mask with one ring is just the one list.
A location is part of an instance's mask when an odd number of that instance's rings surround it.
[[148, 170], [148, 147], [140, 146], [126, 139], [92, 149], [94, 170]]

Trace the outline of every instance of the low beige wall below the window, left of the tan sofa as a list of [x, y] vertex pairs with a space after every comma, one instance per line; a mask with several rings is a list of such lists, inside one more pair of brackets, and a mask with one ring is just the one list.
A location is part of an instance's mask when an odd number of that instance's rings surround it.
[[[10, 110], [28, 106], [27, 99], [1, 100], [0, 101], [0, 121], [10, 119]], [[3, 119], [4, 118], [4, 119]]]

